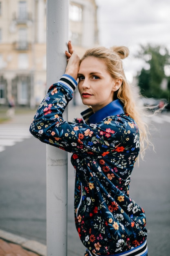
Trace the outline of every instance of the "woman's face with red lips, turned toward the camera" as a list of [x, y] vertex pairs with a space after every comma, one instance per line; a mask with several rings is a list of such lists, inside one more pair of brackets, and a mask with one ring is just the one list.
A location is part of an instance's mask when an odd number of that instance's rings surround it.
[[96, 112], [113, 101], [114, 91], [119, 89], [121, 79], [113, 79], [107, 66], [99, 58], [89, 56], [79, 66], [78, 89], [84, 105]]

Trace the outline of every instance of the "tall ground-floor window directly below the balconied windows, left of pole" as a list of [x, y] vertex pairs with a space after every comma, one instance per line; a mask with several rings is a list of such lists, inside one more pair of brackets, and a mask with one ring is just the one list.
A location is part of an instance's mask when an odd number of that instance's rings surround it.
[[18, 84], [18, 103], [22, 105], [28, 103], [28, 85], [24, 80]]

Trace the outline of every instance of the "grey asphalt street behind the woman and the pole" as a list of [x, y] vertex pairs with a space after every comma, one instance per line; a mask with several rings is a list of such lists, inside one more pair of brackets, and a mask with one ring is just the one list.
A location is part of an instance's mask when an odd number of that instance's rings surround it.
[[[148, 256], [170, 252], [170, 112], [154, 118], [155, 152], [147, 149], [144, 161], [136, 163], [130, 184], [130, 197], [146, 211]], [[85, 247], [74, 225], [74, 175], [69, 161], [68, 256], [82, 256]], [[0, 229], [46, 243], [46, 145], [34, 137], [0, 152]]]

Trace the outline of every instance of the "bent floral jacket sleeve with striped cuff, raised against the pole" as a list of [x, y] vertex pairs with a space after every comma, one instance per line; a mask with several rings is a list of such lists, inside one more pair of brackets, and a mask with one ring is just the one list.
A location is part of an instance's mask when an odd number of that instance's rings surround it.
[[124, 139], [126, 127], [121, 119], [106, 118], [99, 124], [69, 124], [62, 113], [72, 99], [76, 81], [62, 76], [53, 84], [40, 104], [30, 132], [40, 141], [77, 155], [107, 155]]

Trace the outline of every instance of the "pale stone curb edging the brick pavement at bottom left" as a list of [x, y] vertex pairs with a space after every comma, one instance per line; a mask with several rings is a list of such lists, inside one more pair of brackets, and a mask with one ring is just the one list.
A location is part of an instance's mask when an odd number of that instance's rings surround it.
[[2, 229], [0, 229], [0, 238], [6, 240], [7, 242], [18, 244], [22, 248], [39, 254], [40, 256], [46, 256], [46, 245], [43, 245], [42, 243], [39, 243], [37, 241], [29, 240], [21, 236], [14, 235]]

